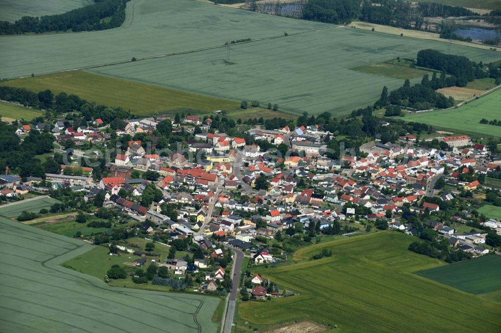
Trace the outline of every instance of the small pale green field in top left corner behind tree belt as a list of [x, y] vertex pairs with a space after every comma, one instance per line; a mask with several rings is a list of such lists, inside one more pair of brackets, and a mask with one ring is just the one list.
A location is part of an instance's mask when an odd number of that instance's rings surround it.
[[14, 22], [23, 16], [61, 14], [94, 3], [93, 0], [0, 0], [0, 21]]

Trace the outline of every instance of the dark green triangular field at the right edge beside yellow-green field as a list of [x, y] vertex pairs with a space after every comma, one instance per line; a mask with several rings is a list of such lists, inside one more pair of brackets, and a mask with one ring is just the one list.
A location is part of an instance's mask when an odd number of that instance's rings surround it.
[[501, 256], [484, 255], [473, 260], [420, 270], [416, 274], [469, 293], [501, 289]]

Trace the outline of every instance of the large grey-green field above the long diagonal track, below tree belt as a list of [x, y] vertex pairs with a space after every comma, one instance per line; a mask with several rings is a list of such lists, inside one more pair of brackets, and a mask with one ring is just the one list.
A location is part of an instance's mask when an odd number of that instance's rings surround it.
[[46, 74], [333, 26], [190, 0], [131, 0], [126, 12], [124, 24], [114, 29], [0, 36], [0, 77]]

